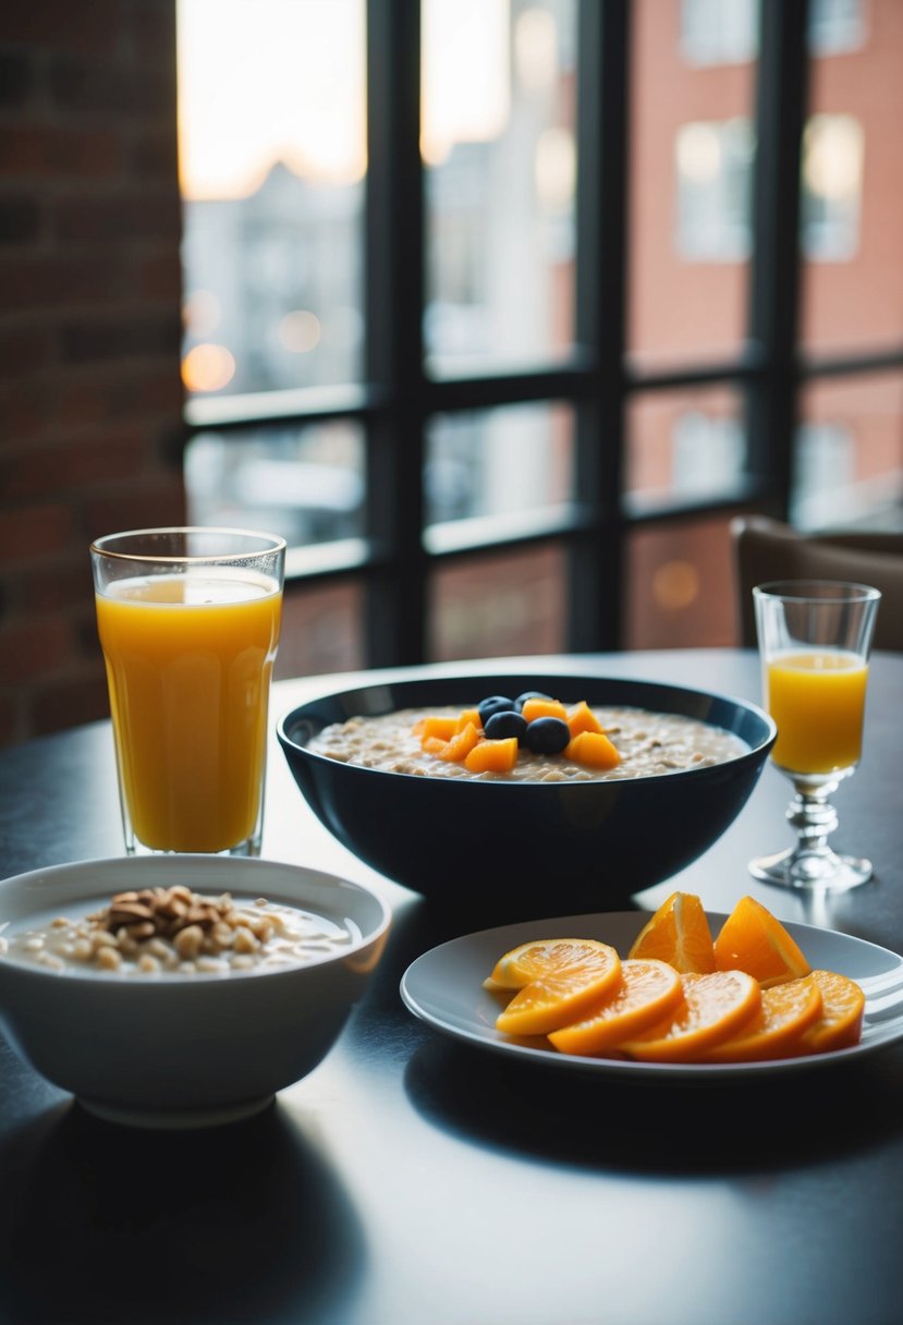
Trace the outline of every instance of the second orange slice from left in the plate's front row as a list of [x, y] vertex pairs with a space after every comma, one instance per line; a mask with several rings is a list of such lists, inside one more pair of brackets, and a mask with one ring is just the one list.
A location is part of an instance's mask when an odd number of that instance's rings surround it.
[[657, 961], [621, 962], [621, 984], [583, 1022], [552, 1031], [561, 1053], [604, 1053], [622, 1040], [642, 1035], [673, 1012], [683, 998], [681, 977]]

